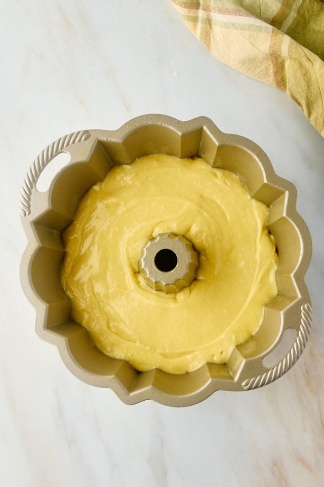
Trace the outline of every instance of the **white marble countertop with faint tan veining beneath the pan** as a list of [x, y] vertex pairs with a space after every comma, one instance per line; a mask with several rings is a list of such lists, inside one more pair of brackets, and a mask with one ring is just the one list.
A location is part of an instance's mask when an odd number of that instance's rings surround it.
[[[9, 486], [320, 487], [324, 478], [324, 140], [283, 92], [216, 61], [168, 0], [2, 2], [0, 472]], [[34, 333], [19, 284], [29, 164], [79, 129], [206, 115], [295, 183], [313, 239], [313, 332], [272, 385], [196, 406], [122, 404]]]

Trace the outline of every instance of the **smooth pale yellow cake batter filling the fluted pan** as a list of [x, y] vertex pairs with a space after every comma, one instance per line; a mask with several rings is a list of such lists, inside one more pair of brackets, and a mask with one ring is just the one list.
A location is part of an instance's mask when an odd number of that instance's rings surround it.
[[[63, 234], [72, 318], [104, 353], [140, 371], [225, 363], [277, 294], [266, 217], [233, 173], [204, 159], [154, 154], [112, 167]], [[142, 247], [167, 232], [199, 252], [196, 281], [177, 294], [154, 291], [138, 273]]]

